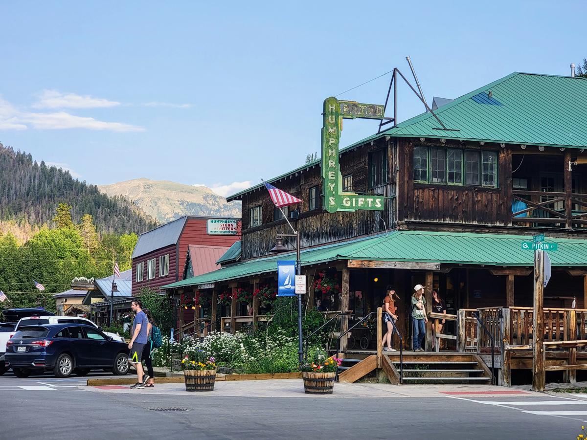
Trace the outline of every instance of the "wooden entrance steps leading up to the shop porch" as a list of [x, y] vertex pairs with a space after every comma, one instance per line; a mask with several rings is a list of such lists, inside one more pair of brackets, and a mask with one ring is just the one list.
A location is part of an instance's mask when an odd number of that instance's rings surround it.
[[[384, 352], [382, 370], [392, 384], [400, 383], [399, 352]], [[339, 381], [355, 382], [377, 368], [377, 356], [367, 351], [347, 351], [339, 367]], [[477, 354], [403, 354], [404, 384], [491, 384], [491, 370]]]

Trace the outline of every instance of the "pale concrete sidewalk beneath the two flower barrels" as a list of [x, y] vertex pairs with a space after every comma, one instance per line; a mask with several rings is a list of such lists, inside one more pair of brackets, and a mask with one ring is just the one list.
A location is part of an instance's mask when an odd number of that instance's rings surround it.
[[157, 384], [154, 388], [130, 390], [126, 385], [104, 385], [86, 388], [95, 392], [184, 395], [197, 397], [320, 397], [320, 398], [409, 398], [443, 397], [447, 395], [470, 395], [484, 397], [503, 397], [504, 395], [541, 395], [532, 391], [511, 390], [492, 385], [390, 385], [390, 384], [346, 384], [336, 383], [333, 394], [316, 396], [303, 392], [301, 379], [221, 381], [211, 392], [187, 392], [185, 385]]

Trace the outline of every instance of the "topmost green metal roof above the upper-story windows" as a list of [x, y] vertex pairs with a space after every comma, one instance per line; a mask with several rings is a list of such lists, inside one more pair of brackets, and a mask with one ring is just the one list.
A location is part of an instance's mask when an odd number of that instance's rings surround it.
[[[491, 99], [487, 96], [490, 90]], [[438, 130], [442, 127], [434, 116], [422, 113], [341, 148], [339, 153], [382, 136], [586, 148], [585, 102], [587, 78], [514, 72], [438, 107], [434, 114], [451, 130]], [[314, 165], [320, 166], [320, 163], [320, 160], [313, 161], [267, 182], [277, 182]], [[237, 192], [227, 200], [232, 201], [262, 186], [258, 184]]]

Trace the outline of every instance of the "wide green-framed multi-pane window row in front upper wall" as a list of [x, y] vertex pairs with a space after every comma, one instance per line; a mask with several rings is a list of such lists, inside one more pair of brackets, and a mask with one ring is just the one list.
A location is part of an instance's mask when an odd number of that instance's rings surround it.
[[497, 187], [497, 152], [414, 147], [414, 181]]

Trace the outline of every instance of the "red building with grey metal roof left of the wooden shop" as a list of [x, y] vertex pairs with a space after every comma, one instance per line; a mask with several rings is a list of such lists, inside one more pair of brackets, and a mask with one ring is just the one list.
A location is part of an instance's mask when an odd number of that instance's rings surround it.
[[[236, 233], [226, 235], [234, 225]], [[218, 256], [240, 239], [240, 233], [240, 219], [204, 216], [183, 216], [142, 233], [133, 252], [132, 296], [143, 287], [158, 290], [183, 279], [188, 249], [192, 276], [214, 270]]]

